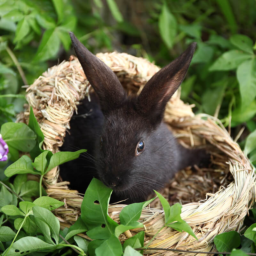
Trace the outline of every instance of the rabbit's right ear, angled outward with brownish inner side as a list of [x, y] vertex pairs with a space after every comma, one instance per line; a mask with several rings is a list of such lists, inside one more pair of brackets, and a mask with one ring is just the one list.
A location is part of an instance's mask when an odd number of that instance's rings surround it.
[[151, 77], [138, 96], [137, 110], [149, 116], [150, 119], [153, 119], [153, 122], [162, 120], [165, 105], [183, 81], [195, 48], [196, 43], [190, 44], [188, 49], [177, 59], [160, 69]]

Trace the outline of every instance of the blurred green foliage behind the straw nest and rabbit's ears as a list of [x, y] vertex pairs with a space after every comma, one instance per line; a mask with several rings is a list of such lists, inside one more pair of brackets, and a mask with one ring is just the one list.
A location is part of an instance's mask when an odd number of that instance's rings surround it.
[[161, 67], [197, 42], [181, 98], [233, 138], [244, 129], [239, 143], [255, 164], [255, 0], [0, 0], [0, 125], [22, 110], [23, 85], [73, 54], [68, 31], [93, 53]]

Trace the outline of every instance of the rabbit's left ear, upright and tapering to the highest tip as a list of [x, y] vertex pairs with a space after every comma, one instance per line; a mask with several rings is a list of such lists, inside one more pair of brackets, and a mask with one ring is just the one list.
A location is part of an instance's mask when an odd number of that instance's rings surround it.
[[69, 35], [84, 73], [99, 97], [102, 112], [118, 107], [126, 98], [126, 93], [115, 73], [80, 43], [72, 32]]

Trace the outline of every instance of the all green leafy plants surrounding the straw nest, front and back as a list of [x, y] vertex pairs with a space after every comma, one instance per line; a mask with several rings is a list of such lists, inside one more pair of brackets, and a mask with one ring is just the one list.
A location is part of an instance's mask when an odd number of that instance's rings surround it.
[[[80, 254], [89, 251], [90, 255], [104, 255], [106, 248], [112, 248], [113, 255], [136, 255], [140, 252], [133, 248], [143, 247], [142, 233], [123, 245], [117, 236], [125, 228], [140, 225], [138, 216], [147, 203], [136, 208], [137, 215], [132, 220], [125, 217], [127, 207], [122, 223], [117, 225], [106, 215], [111, 191], [96, 180], [94, 186], [104, 193], [95, 199], [89, 189], [84, 200], [97, 200], [104, 205], [104, 212], [97, 215], [107, 227], [102, 234], [104, 239], [95, 237], [102, 227], [86, 222], [86, 209], [69, 230], [60, 231], [51, 210], [61, 202], [45, 197], [42, 177], [64, 158], [74, 159], [82, 151], [52, 154], [42, 150], [43, 134], [33, 116], [28, 126], [12, 123], [26, 102], [21, 86], [33, 83], [48, 67], [73, 53], [69, 31], [74, 31], [94, 53], [118, 50], [148, 58], [160, 66], [177, 57], [190, 42], [197, 42], [189, 74], [182, 83], [181, 98], [195, 104], [196, 113], [218, 117], [234, 138], [239, 134], [240, 146], [255, 164], [255, 24], [254, 0], [148, 0], [147, 4], [143, 0], [0, 0], [0, 133], [9, 146], [8, 163], [0, 162], [3, 254], [68, 255], [73, 246]], [[20, 158], [19, 151], [30, 152], [30, 157]], [[39, 182], [28, 180], [28, 173], [37, 174]], [[162, 204], [165, 205], [164, 199]], [[93, 207], [99, 208], [96, 204]], [[168, 207], [164, 206], [165, 225], [176, 221], [193, 235], [179, 214], [170, 216]], [[179, 205], [174, 207], [180, 211]], [[86, 208], [85, 204], [82, 208]], [[231, 252], [237, 248], [232, 255], [255, 252], [255, 218], [252, 209], [242, 236], [235, 231], [216, 236], [217, 249]], [[82, 230], [97, 238], [95, 242], [89, 245], [77, 236]]]

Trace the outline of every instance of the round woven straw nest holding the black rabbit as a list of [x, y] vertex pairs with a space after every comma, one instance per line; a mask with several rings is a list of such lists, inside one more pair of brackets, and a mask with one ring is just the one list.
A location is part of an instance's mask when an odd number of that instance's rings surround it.
[[[140, 93], [144, 84], [159, 70], [147, 60], [126, 53], [99, 53], [97, 56], [116, 73], [128, 93]], [[28, 103], [45, 136], [44, 149], [58, 151], [77, 104], [89, 90], [90, 85], [74, 56], [49, 68], [27, 88]], [[165, 122], [170, 124], [184, 146], [206, 146], [211, 153], [211, 164], [208, 168], [195, 166], [177, 173], [162, 192], [171, 203], [183, 204], [181, 217], [192, 227], [198, 241], [187, 233], [164, 228], [150, 246], [198, 251], [196, 255], [201, 255], [200, 251], [215, 250], [213, 238], [217, 234], [241, 230], [244, 217], [254, 202], [255, 172], [220, 121], [212, 116], [195, 116], [191, 110], [193, 106], [184, 104], [179, 96], [178, 91], [168, 102]], [[27, 110], [20, 113], [19, 122], [28, 121], [28, 109], [27, 106]], [[59, 177], [59, 168], [47, 173], [44, 185], [49, 196], [65, 202], [55, 213], [62, 227], [69, 226], [80, 214], [83, 197], [68, 189], [68, 181]], [[127, 231], [120, 236], [121, 241], [144, 230], [146, 245], [164, 225], [164, 213], [157, 209], [159, 202], [150, 206], [140, 217], [144, 228]], [[110, 205], [110, 217], [118, 222], [123, 207]], [[149, 250], [144, 253], [177, 255]]]

